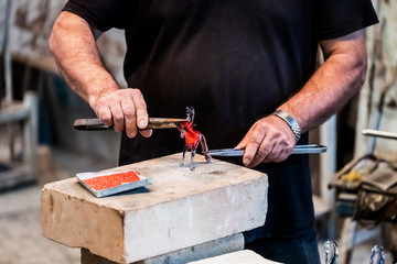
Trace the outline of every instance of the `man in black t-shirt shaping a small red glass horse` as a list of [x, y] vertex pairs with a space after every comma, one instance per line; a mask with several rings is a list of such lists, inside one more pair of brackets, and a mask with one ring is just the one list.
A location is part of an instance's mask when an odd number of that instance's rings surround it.
[[[267, 173], [270, 186], [247, 249], [307, 264], [320, 263], [308, 156], [290, 154], [363, 85], [363, 29], [376, 22], [369, 0], [69, 0], [50, 47], [71, 88], [125, 131], [120, 164], [181, 152], [175, 131], [144, 128], [187, 106], [210, 148], [245, 148], [229, 161]], [[111, 28], [126, 32], [128, 89], [96, 48]], [[314, 73], [318, 44], [325, 63]]]

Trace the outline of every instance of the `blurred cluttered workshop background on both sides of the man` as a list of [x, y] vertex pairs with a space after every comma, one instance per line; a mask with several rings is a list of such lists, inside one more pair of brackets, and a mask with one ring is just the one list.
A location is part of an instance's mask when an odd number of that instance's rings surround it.
[[[41, 235], [41, 188], [78, 172], [117, 165], [117, 133], [73, 129], [75, 119], [95, 113], [67, 87], [47, 48], [65, 2], [0, 0], [0, 264], [79, 263], [79, 250]], [[380, 23], [367, 32], [366, 82], [337, 116], [310, 135], [312, 143], [329, 147], [326, 154], [311, 156], [313, 199], [320, 240], [337, 241], [340, 263], [368, 263], [375, 244], [386, 249], [386, 263], [393, 263], [397, 248], [394, 216], [386, 219], [378, 213], [369, 221], [352, 218], [350, 210], [362, 196], [335, 178], [336, 172], [348, 174], [357, 161], [368, 158], [387, 161], [397, 178], [397, 140], [362, 133], [364, 129], [397, 133], [397, 1], [373, 3]], [[98, 45], [109, 70], [126, 86], [122, 31], [107, 32]], [[369, 165], [364, 161], [360, 166]], [[393, 189], [393, 184], [387, 188]], [[396, 197], [393, 191], [387, 195], [387, 202]]]

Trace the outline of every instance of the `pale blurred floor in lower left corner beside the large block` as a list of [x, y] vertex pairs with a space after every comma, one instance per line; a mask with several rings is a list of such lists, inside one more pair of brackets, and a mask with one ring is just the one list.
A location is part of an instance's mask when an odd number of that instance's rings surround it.
[[79, 263], [79, 250], [69, 249], [41, 235], [41, 186], [0, 195], [1, 264]]

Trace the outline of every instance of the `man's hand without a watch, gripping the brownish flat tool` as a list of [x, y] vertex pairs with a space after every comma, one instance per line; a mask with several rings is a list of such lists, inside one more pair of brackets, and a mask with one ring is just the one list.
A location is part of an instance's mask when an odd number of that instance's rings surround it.
[[148, 111], [139, 89], [118, 89], [103, 92], [98, 98], [90, 98], [89, 105], [97, 117], [116, 132], [126, 131], [128, 138], [135, 138], [137, 131], [146, 138], [152, 134], [144, 130], [148, 125]]

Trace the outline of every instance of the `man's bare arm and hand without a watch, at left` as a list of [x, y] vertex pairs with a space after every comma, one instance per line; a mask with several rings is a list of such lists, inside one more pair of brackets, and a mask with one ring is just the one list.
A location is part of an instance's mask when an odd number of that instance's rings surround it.
[[[69, 87], [86, 100], [104, 123], [128, 136], [148, 124], [148, 112], [139, 89], [120, 89], [104, 67], [93, 29], [81, 16], [62, 12], [55, 21], [50, 51]], [[140, 131], [150, 136], [151, 131]]]

